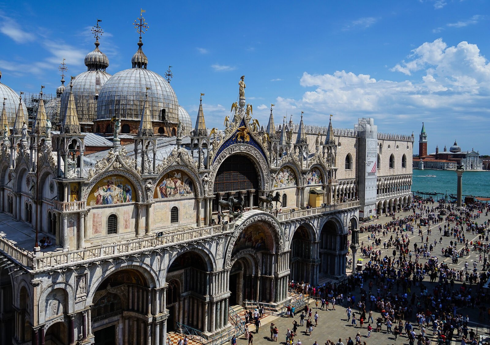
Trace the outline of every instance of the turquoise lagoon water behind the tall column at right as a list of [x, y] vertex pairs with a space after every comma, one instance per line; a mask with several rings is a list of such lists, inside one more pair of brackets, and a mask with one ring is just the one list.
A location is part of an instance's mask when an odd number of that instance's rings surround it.
[[[427, 177], [436, 175], [436, 177]], [[413, 192], [456, 194], [458, 177], [454, 170], [414, 169]], [[463, 195], [490, 197], [490, 171], [465, 171], [463, 173]]]

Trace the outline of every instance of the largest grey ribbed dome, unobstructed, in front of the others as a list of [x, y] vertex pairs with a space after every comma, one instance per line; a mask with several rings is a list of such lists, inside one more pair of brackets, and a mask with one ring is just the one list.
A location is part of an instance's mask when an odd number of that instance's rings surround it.
[[116, 115], [118, 118], [140, 120], [146, 92], [153, 121], [161, 121], [162, 110], [165, 109], [167, 120], [178, 123], [175, 92], [161, 75], [145, 68], [125, 69], [107, 80], [98, 96], [97, 119], [110, 119]]

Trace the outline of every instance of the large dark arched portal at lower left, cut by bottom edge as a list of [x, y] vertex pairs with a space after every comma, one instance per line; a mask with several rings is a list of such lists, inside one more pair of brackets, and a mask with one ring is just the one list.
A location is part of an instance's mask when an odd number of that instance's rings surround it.
[[95, 345], [146, 344], [151, 291], [145, 276], [133, 269], [105, 278], [94, 294], [92, 329]]

